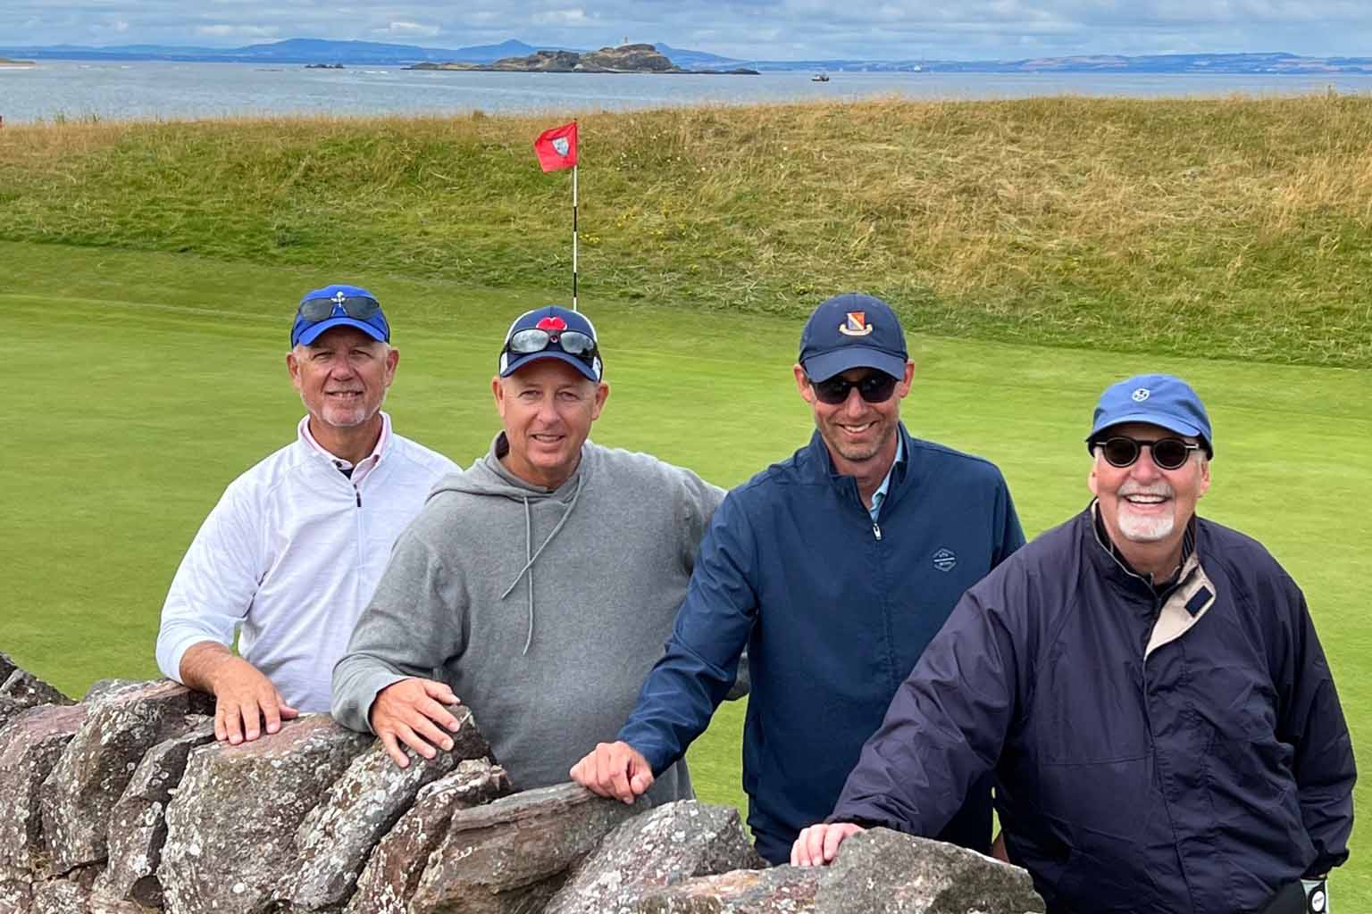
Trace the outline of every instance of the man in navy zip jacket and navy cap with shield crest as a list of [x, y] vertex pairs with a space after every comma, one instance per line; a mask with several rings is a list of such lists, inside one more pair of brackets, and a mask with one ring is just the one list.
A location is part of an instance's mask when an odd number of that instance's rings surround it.
[[[704, 732], [746, 645], [744, 789], [759, 852], [785, 861], [831, 808], [958, 597], [1024, 544], [995, 466], [900, 423], [912, 375], [885, 301], [842, 295], [815, 310], [794, 366], [809, 445], [726, 496], [665, 656], [619, 741], [582, 759], [576, 781], [624, 802], [648, 789]], [[985, 851], [989, 777], [956, 806], [945, 840]]]

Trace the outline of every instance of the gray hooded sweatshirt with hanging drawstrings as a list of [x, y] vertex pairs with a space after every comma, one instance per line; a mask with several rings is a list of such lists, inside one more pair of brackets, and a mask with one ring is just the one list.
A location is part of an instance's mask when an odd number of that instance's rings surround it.
[[[446, 681], [514, 787], [560, 784], [628, 719], [686, 595], [723, 491], [586, 441], [556, 491], [499, 462], [504, 434], [446, 477], [401, 533], [333, 667], [333, 717], [369, 730], [376, 693]], [[685, 761], [654, 803], [691, 796]]]

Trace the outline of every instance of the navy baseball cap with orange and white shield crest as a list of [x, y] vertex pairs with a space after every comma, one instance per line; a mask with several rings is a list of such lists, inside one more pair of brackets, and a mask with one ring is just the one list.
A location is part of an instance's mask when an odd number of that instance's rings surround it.
[[811, 381], [827, 381], [848, 369], [877, 369], [906, 377], [906, 333], [890, 306], [849, 292], [820, 303], [800, 334], [800, 367]]

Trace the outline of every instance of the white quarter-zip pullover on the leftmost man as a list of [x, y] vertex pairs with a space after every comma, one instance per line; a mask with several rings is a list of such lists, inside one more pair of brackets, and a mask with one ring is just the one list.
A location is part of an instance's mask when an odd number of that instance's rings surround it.
[[[158, 666], [181, 680], [200, 641], [232, 647], [299, 711], [329, 710], [333, 663], [386, 569], [395, 537], [457, 466], [391, 432], [348, 467], [300, 419], [296, 440], [225, 489], [162, 607]], [[239, 633], [241, 629], [241, 633]]]

